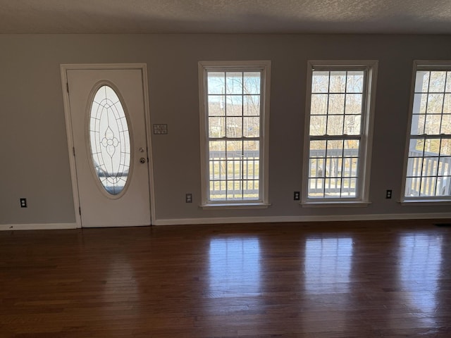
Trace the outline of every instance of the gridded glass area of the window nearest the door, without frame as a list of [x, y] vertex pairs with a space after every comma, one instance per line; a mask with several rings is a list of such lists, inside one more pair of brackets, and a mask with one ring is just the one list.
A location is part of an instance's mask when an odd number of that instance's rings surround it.
[[211, 83], [210, 137], [228, 140], [210, 144], [210, 199], [259, 199], [261, 72], [218, 72]]

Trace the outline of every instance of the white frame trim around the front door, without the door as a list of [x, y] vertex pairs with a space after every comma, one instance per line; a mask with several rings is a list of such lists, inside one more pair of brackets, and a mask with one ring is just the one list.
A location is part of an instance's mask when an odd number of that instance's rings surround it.
[[149, 111], [149, 82], [147, 80], [147, 64], [146, 63], [68, 63], [61, 64], [61, 87], [63, 90], [64, 116], [66, 119], [66, 134], [68, 138], [68, 155], [70, 165], [70, 177], [72, 181], [73, 205], [75, 213], [75, 224], [78, 228], [82, 227], [82, 218], [80, 215], [80, 194], [78, 192], [77, 169], [75, 165], [75, 149], [73, 142], [72, 120], [70, 118], [70, 99], [68, 86], [68, 70], [116, 70], [116, 69], [138, 69], [142, 73], [142, 90], [144, 97], [144, 121], [147, 137], [147, 162], [149, 172], [149, 199], [150, 199], [150, 222], [155, 223], [155, 189], [154, 189], [154, 161], [152, 158], [152, 129], [150, 123]]

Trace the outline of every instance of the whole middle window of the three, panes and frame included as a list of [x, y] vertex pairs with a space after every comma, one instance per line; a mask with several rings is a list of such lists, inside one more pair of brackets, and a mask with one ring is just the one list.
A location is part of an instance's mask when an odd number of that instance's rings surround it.
[[309, 61], [302, 201], [368, 202], [377, 61]]

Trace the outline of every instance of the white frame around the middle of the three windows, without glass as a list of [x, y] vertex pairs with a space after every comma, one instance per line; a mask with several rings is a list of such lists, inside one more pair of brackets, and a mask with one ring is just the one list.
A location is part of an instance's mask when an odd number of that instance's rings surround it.
[[[310, 145], [310, 110], [311, 110], [311, 84], [313, 71], [322, 70], [366, 70], [366, 82], [364, 84], [362, 121], [359, 140], [359, 186], [355, 197], [334, 198], [309, 198], [309, 145]], [[369, 202], [369, 178], [371, 169], [371, 148], [373, 142], [373, 119], [376, 104], [376, 83], [378, 61], [377, 60], [311, 60], [307, 61], [307, 96], [306, 116], [304, 130], [304, 156], [302, 169], [302, 200], [304, 207], [310, 206], [368, 206]]]

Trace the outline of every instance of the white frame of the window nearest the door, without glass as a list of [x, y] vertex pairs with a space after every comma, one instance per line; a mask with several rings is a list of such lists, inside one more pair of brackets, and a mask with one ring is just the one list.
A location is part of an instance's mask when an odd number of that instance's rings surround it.
[[[209, 199], [209, 125], [207, 73], [261, 72], [260, 137], [259, 137], [259, 199], [243, 201], [211, 201]], [[271, 61], [199, 61], [199, 110], [202, 208], [267, 208], [268, 201], [268, 150], [269, 150], [269, 93], [271, 83]]]

